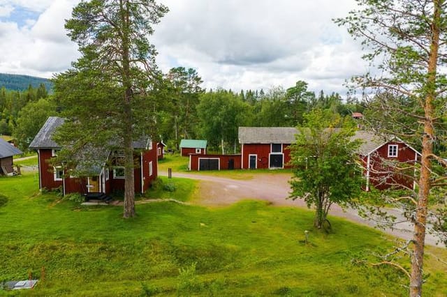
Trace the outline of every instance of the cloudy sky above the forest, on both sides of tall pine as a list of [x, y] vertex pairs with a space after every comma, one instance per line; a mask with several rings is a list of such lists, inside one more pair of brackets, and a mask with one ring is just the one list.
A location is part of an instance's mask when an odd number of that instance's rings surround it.
[[[0, 73], [51, 77], [79, 54], [64, 30], [78, 0], [0, 0]], [[207, 89], [270, 89], [304, 80], [345, 93], [365, 73], [358, 43], [334, 17], [354, 0], [162, 0], [152, 42], [163, 71], [195, 68]]]

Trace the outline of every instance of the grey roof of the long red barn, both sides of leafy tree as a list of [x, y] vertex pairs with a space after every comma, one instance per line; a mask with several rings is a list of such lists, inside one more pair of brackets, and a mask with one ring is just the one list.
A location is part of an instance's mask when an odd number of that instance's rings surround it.
[[[298, 133], [298, 129], [291, 127], [239, 127], [239, 143], [293, 144]], [[386, 139], [367, 131], [356, 131], [352, 137], [352, 140], [354, 139], [363, 140], [359, 148], [360, 155], [368, 155], [387, 142]]]

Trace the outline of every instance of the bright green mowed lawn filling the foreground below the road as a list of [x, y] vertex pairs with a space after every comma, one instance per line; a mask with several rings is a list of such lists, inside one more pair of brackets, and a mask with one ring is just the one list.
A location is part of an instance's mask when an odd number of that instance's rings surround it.
[[[386, 237], [336, 218], [332, 233], [316, 231], [311, 211], [261, 201], [228, 208], [163, 201], [138, 205], [138, 215], [124, 220], [121, 207], [80, 208], [40, 194], [32, 174], [0, 178], [0, 193], [8, 197], [0, 207], [0, 280], [41, 280], [22, 294], [407, 295], [403, 273], [356, 264], [390, 247]], [[446, 266], [437, 261], [445, 261], [445, 249], [429, 252], [424, 294], [445, 296]]]

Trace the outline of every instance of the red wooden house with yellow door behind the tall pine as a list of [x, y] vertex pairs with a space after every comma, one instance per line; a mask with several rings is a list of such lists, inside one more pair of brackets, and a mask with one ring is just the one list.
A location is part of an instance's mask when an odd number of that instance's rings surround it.
[[[81, 154], [76, 170], [73, 171], [63, 166], [50, 165], [50, 159], [61, 149], [61, 146], [52, 140], [52, 135], [62, 123], [64, 119], [50, 116], [29, 146], [38, 153], [39, 188], [61, 187], [64, 195], [79, 192], [91, 196], [123, 191], [124, 167], [119, 166], [119, 160], [123, 156], [119, 148], [87, 148], [88, 153]], [[138, 163], [134, 172], [135, 192], [144, 193], [157, 176], [156, 146], [149, 140], [134, 142], [133, 147], [134, 159]], [[87, 157], [92, 155], [94, 157]]]

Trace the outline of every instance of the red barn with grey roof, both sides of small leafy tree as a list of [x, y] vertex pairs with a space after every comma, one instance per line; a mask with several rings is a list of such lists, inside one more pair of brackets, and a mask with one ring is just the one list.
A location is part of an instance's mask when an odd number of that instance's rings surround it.
[[[290, 167], [288, 146], [295, 142], [298, 132], [296, 128], [288, 127], [240, 127], [242, 169]], [[379, 190], [391, 187], [414, 188], [411, 178], [413, 172], [396, 173], [393, 168], [396, 165], [413, 165], [418, 161], [418, 151], [397, 137], [380, 139], [365, 131], [356, 132], [353, 139], [363, 141], [359, 155], [365, 168], [365, 190], [369, 190], [370, 185]]]

